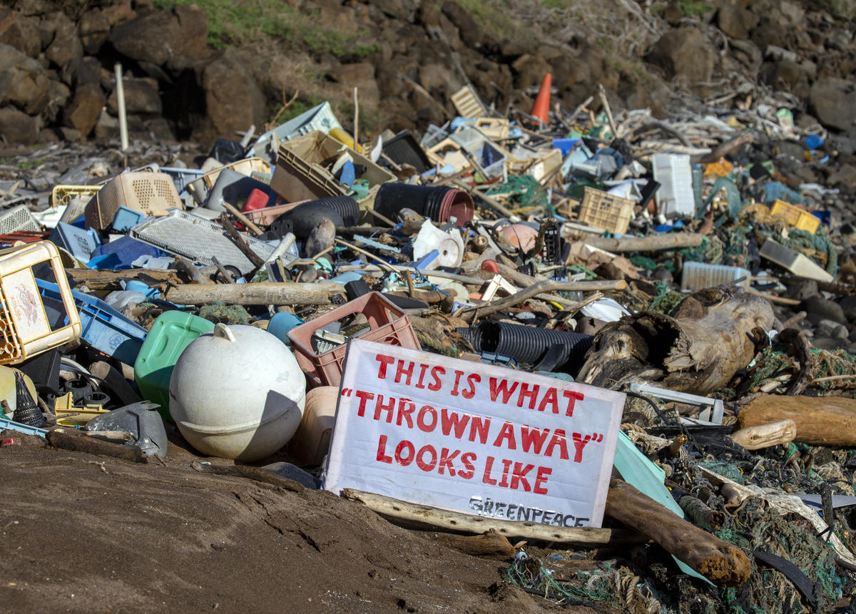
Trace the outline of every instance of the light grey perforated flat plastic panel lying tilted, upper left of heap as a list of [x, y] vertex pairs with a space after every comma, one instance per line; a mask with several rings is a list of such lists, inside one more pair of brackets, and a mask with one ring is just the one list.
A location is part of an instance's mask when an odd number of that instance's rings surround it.
[[[227, 236], [225, 228], [213, 221], [181, 210], [170, 210], [169, 215], [148, 218], [130, 230], [134, 239], [159, 247], [170, 254], [192, 259], [194, 262], [213, 264], [213, 257], [223, 264], [232, 264], [241, 274], [255, 269], [244, 253]], [[262, 260], [270, 256], [273, 246], [259, 239], [244, 239], [250, 249]]]

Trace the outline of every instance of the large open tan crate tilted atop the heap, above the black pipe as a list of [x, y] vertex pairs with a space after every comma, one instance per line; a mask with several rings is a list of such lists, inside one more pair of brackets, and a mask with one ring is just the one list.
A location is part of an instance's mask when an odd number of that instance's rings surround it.
[[[333, 166], [334, 162], [336, 162], [339, 156], [342, 156], [343, 153], [348, 153], [348, 155], [351, 156], [351, 159], [354, 160], [355, 165], [359, 165], [366, 168], [366, 172], [363, 173], [360, 177], [358, 177], [358, 179], [368, 180], [369, 193], [368, 196], [360, 199], [360, 203], [374, 202], [374, 197], [377, 194], [377, 190], [380, 189], [380, 186], [382, 184], [388, 181], [398, 180], [398, 178], [395, 177], [394, 174], [390, 173], [385, 168], [377, 166], [377, 164], [372, 162], [370, 158], [363, 156], [357, 151], [354, 151], [353, 149], [348, 147], [348, 145], [342, 144], [341, 141], [334, 139], [330, 135], [319, 131], [308, 133], [305, 136], [300, 137], [299, 139], [290, 140], [280, 145], [280, 158], [276, 162], [277, 171], [282, 168], [280, 166], [280, 162], [282, 162], [283, 153], [292, 154], [294, 157], [299, 158], [300, 162], [308, 164], [310, 167], [317, 169], [318, 172], [323, 174], [326, 179], [330, 180], [330, 182], [335, 184], [337, 192], [336, 194], [330, 194], [330, 196], [336, 196], [337, 194], [344, 194], [345, 192], [348, 192], [348, 188], [345, 186], [340, 186], [338, 182], [333, 178], [333, 175], [327, 170], [327, 168]], [[276, 173], [274, 175], [276, 179]], [[276, 193], [280, 193], [278, 190], [276, 190], [274, 180], [271, 180], [270, 187], [272, 187], [276, 191]]]

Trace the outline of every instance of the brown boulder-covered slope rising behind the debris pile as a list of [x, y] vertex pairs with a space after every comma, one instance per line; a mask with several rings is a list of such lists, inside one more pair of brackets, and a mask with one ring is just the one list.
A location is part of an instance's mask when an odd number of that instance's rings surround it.
[[17, 0], [0, 8], [0, 136], [115, 138], [121, 62], [132, 134], [163, 140], [234, 137], [324, 99], [347, 124], [354, 87], [370, 132], [445, 121], [467, 83], [528, 110], [550, 72], [566, 109], [597, 83], [614, 109], [655, 115], [788, 92], [796, 121], [851, 153], [854, 18], [852, 0]]

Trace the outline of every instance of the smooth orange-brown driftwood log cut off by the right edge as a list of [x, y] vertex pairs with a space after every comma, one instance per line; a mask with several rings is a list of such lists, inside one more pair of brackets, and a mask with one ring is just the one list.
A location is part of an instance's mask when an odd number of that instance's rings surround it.
[[741, 408], [737, 417], [740, 428], [793, 420], [794, 441], [813, 446], [856, 446], [856, 399], [764, 394]]

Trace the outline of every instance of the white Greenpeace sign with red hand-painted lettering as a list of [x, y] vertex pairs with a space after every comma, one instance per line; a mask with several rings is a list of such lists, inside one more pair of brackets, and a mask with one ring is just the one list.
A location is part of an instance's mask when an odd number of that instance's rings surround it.
[[623, 393], [354, 339], [324, 488], [599, 527]]

